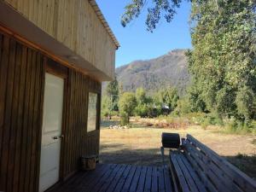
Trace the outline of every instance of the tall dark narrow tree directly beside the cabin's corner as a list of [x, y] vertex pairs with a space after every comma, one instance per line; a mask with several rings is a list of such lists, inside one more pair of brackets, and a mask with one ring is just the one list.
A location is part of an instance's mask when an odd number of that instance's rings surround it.
[[119, 82], [114, 77], [114, 80], [108, 83], [106, 88], [107, 96], [110, 98], [111, 108], [110, 112], [118, 111], [119, 110]]

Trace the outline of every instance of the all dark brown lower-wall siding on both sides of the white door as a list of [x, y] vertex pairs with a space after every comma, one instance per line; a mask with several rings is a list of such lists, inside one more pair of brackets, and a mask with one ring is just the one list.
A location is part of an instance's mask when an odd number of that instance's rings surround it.
[[[0, 33], [0, 191], [38, 191], [44, 73], [48, 58]], [[99, 153], [101, 83], [68, 69], [60, 177], [81, 155]], [[87, 133], [89, 91], [98, 93], [96, 131]]]

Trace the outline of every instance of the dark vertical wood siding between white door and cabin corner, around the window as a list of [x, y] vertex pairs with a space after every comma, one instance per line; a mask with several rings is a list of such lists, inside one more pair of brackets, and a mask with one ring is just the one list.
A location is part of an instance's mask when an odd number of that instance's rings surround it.
[[[89, 91], [101, 94], [101, 84], [81, 73], [69, 70], [67, 80], [67, 110], [65, 118], [65, 144], [63, 151], [63, 176], [67, 177], [79, 168], [82, 155], [99, 154], [99, 108], [97, 103], [96, 131], [87, 132], [87, 108]], [[67, 163], [66, 163], [67, 162]]]

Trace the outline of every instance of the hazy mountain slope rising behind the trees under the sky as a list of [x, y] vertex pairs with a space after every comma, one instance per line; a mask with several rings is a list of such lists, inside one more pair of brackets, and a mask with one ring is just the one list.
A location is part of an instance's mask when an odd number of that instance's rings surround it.
[[151, 60], [133, 61], [118, 67], [116, 75], [119, 84], [123, 85], [125, 91], [143, 87], [149, 94], [172, 86], [183, 95], [190, 80], [185, 51], [186, 49], [174, 49]]

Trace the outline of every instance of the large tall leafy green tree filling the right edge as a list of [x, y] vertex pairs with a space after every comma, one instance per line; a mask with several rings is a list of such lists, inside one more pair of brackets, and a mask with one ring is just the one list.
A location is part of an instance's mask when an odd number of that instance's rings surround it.
[[255, 118], [255, 2], [192, 1], [189, 71], [192, 111]]

